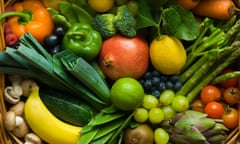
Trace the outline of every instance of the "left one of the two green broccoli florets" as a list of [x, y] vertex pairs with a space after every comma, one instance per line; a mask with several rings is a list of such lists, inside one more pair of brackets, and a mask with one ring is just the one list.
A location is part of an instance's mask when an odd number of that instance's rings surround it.
[[92, 26], [103, 38], [109, 38], [117, 33], [113, 25], [114, 15], [112, 13], [98, 14], [94, 17]]

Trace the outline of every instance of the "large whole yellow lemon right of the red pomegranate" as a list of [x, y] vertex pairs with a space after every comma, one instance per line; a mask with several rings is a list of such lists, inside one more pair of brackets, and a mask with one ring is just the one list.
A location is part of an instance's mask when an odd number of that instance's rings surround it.
[[163, 35], [150, 44], [150, 60], [153, 67], [167, 75], [177, 74], [186, 63], [187, 54], [180, 40]]

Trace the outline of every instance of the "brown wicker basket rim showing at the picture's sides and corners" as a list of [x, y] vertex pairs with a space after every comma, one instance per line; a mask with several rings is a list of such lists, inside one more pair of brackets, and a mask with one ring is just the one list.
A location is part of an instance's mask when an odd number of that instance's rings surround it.
[[[12, 5], [16, 0], [0, 0], [0, 14], [4, 12], [6, 6]], [[3, 26], [0, 26], [0, 51], [3, 51], [5, 47]], [[4, 75], [0, 74], [0, 144], [23, 144], [21, 140], [15, 137], [13, 134], [7, 132], [3, 126], [3, 117], [7, 111], [7, 105], [3, 98], [3, 90], [5, 88]], [[240, 110], [240, 105], [238, 107]], [[239, 111], [240, 112], [240, 111]], [[239, 121], [240, 126], [240, 121]], [[240, 127], [232, 130], [226, 138], [226, 144], [240, 144]]]

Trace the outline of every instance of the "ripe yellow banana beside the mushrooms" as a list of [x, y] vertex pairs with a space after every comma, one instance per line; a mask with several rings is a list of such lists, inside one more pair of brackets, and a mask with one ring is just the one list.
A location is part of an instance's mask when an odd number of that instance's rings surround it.
[[34, 86], [25, 103], [25, 118], [30, 128], [49, 144], [76, 144], [80, 138], [77, 127], [56, 118], [39, 97], [39, 87]]

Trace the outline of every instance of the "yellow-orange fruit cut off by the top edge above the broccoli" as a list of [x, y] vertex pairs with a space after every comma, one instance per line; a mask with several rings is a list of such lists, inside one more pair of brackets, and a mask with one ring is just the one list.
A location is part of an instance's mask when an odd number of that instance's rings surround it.
[[96, 12], [107, 12], [114, 5], [114, 0], [87, 0], [87, 2]]

